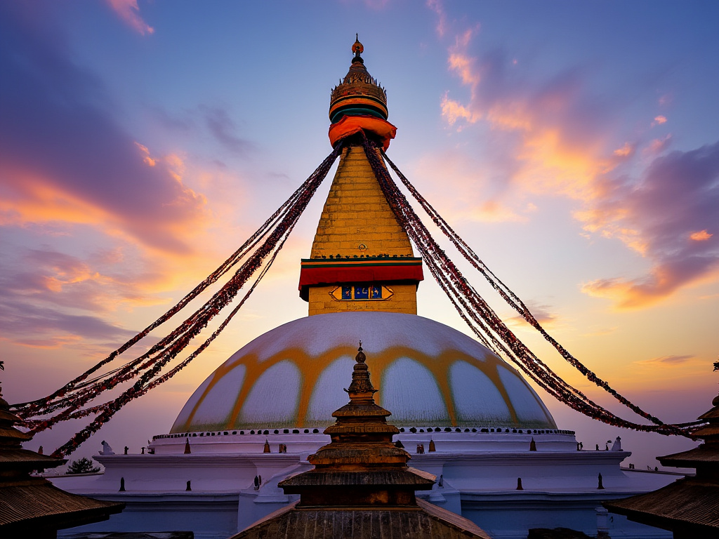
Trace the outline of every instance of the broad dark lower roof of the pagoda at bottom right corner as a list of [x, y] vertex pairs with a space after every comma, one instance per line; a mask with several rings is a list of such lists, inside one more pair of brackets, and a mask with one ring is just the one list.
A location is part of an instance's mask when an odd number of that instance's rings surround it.
[[611, 512], [665, 530], [688, 526], [713, 530], [719, 535], [719, 488], [716, 482], [694, 477], [625, 499], [604, 502]]

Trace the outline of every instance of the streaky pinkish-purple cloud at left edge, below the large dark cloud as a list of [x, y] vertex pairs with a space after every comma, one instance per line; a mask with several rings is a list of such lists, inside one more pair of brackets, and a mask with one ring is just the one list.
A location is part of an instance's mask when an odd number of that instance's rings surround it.
[[[0, 249], [11, 252], [14, 243], [3, 241]], [[111, 319], [167, 303], [163, 292], [173, 279], [165, 275], [175, 277], [128, 251], [116, 247], [78, 257], [52, 247], [15, 247], [0, 261], [0, 338], [43, 348], [127, 340], [135, 331]]]

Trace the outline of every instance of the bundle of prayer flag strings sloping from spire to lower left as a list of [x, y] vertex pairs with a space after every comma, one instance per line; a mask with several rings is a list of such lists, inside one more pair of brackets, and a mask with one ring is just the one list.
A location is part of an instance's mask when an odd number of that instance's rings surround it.
[[[214, 338], [226, 327], [227, 323], [232, 320], [239, 308], [244, 305], [249, 295], [255, 290], [260, 280], [262, 280], [262, 277], [266, 275], [267, 270], [270, 269], [280, 249], [284, 246], [285, 241], [297, 224], [307, 204], [321, 182], [326, 178], [331, 166], [341, 152], [342, 144], [339, 144], [324, 162], [317, 167], [308, 180], [280, 206], [273, 216], [267, 219], [260, 229], [257, 229], [255, 234], [252, 234], [237, 252], [232, 254], [232, 257], [229, 257], [229, 259], [207, 277], [206, 280], [203, 280], [203, 282], [197, 285], [183, 300], [180, 300], [180, 303], [168, 310], [168, 312], [158, 318], [157, 321], [147, 326], [145, 330], [127, 341], [127, 343], [108, 357], [91, 367], [91, 369], [88, 369], [79, 377], [68, 382], [68, 384], [65, 384], [65, 386], [52, 393], [52, 395], [44, 399], [14, 405], [12, 407], [13, 410], [17, 415], [23, 418], [24, 425], [30, 428], [30, 432], [40, 432], [41, 430], [51, 428], [52, 425], [63, 420], [96, 415], [96, 418], [94, 418], [86, 428], [76, 433], [68, 443], [65, 443], [53, 453], [56, 456], [66, 456], [74, 451], [75, 448], [85, 441], [93, 432], [101, 428], [117, 410], [131, 400], [144, 395], [147, 391], [170, 379], [170, 377], [196, 358], [201, 351], [206, 349], [206, 347], [214, 341]], [[267, 259], [267, 257], [269, 257], [269, 259]], [[239, 264], [239, 262], [242, 262], [242, 259], [245, 259], [244, 263], [242, 263], [239, 269], [236, 270], [234, 275], [220, 290], [215, 292], [201, 308], [186, 318], [183, 323], [180, 323], [168, 336], [160, 339], [149, 351], [120, 367], [111, 369], [109, 372], [94, 377], [93, 379], [88, 379], [90, 374], [97, 372], [101, 367], [109, 364], [116, 359], [119, 354], [122, 354], [123, 351], [126, 351], [140, 339], [147, 336], [152, 329], [172, 318], [173, 315], [178, 313], [191, 300], [206, 290], [209, 285], [219, 280], [222, 275], [229, 272], [229, 270]], [[260, 268], [262, 269], [260, 270]], [[249, 287], [249, 290], [244, 294], [242, 300], [225, 318], [216, 331], [214, 331], [196, 351], [193, 351], [185, 360], [181, 361], [180, 364], [165, 374], [160, 374], [162, 369], [168, 366], [170, 361], [173, 361], [173, 359], [193, 341], [193, 338], [198, 336], [203, 328], [234, 300], [239, 290], [242, 289], [249, 278], [258, 270], [260, 270], [260, 273], [255, 279], [255, 282]], [[122, 392], [122, 395], [119, 395], [116, 399], [104, 402], [104, 404], [101, 405], [85, 407], [101, 393], [111, 390], [122, 382], [127, 382], [134, 378], [137, 378], [137, 380], [132, 387]], [[51, 415], [52, 413], [55, 413], [55, 415]], [[47, 417], [47, 415], [50, 415], [50, 417]]]

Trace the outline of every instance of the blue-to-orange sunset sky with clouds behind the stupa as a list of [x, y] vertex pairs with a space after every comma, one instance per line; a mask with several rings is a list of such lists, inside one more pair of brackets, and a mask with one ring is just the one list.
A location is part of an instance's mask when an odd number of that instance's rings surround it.
[[[265, 222], [331, 152], [357, 32], [400, 170], [575, 357], [662, 420], [693, 420], [719, 382], [718, 22], [714, 1], [1, 3], [4, 397], [85, 371]], [[71, 458], [104, 439], [139, 452], [234, 351], [306, 315], [299, 259], [327, 190], [234, 324]], [[459, 266], [562, 377], [637, 419]], [[469, 333], [429, 280], [418, 314]], [[692, 446], [539, 394], [585, 447], [621, 436], [638, 467]]]

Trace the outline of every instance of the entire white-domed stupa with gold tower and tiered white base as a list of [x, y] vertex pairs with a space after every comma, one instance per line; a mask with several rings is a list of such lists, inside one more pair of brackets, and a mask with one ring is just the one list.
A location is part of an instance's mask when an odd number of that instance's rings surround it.
[[[352, 45], [349, 72], [331, 92], [330, 141], [343, 149], [299, 294], [308, 316], [255, 338], [218, 367], [150, 453], [96, 456], [105, 473], [57, 479], [63, 488], [127, 508], [91, 530], [193, 530], [225, 538], [297, 499], [278, 484], [307, 471], [308, 455], [347, 399], [357, 341], [372, 357], [395, 442], [438, 477], [418, 497], [475, 522], [493, 538], [530, 528], [597, 535], [597, 507], [675, 479], [623, 471], [628, 451], [578, 451], [536, 392], [473, 338], [416, 314], [422, 260], [377, 183], [362, 137], [388, 147], [387, 97]], [[381, 154], [377, 157], [381, 160]], [[601, 479], [600, 479], [601, 476]], [[124, 492], [118, 492], [121, 484]], [[603, 482], [600, 484], [600, 482]], [[601, 488], [600, 488], [601, 487]], [[600, 508], [600, 519], [605, 510]], [[624, 538], [659, 538], [615, 517]]]

